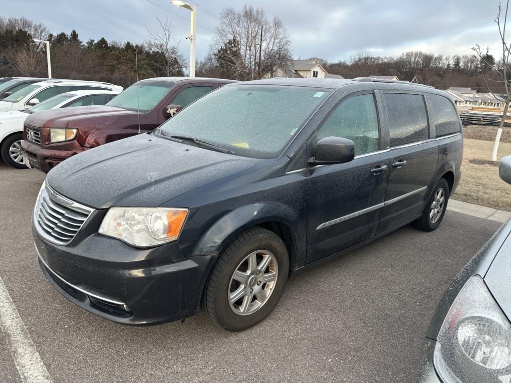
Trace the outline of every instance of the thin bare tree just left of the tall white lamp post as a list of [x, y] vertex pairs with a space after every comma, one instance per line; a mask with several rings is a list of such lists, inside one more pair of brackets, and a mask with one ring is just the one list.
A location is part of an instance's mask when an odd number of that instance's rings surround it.
[[159, 29], [154, 30], [151, 27], [146, 27], [150, 40], [146, 41], [145, 45], [150, 51], [160, 52], [164, 55], [165, 60], [155, 61], [155, 65], [166, 76], [171, 76], [175, 72], [176, 65], [181, 68], [187, 67], [186, 61], [178, 49], [179, 42], [172, 36], [172, 23], [168, 19], [161, 21], [158, 17], [156, 20]]

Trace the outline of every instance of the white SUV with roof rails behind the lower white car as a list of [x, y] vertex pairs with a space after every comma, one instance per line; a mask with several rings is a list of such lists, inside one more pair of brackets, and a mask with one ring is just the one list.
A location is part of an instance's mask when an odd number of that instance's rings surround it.
[[57, 94], [73, 90], [122, 91], [123, 87], [100, 81], [44, 80], [20, 89], [0, 101], [0, 112], [30, 108]]

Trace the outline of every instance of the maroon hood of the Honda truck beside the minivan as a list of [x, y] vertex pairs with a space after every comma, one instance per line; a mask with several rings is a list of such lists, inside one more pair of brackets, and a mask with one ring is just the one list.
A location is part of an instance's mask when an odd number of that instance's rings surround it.
[[[117, 108], [114, 106], [76, 106], [71, 108], [58, 108], [41, 110], [31, 114], [27, 118], [26, 124], [37, 128], [80, 128], [80, 120], [104, 117], [114, 117], [120, 115], [136, 114], [131, 110]], [[87, 123], [87, 126], [90, 124]]]

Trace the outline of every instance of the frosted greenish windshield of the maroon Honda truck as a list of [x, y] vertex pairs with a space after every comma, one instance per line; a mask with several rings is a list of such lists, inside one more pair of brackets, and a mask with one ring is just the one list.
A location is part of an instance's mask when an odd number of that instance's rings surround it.
[[168, 81], [139, 81], [106, 105], [146, 113], [152, 110], [174, 85], [175, 83]]

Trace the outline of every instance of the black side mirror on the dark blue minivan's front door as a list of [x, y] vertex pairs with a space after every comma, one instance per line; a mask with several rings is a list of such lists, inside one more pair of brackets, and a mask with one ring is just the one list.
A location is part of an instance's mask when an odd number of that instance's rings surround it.
[[342, 137], [324, 137], [316, 143], [315, 156], [309, 163], [316, 165], [350, 162], [355, 158], [355, 142]]

